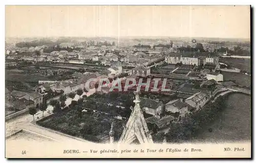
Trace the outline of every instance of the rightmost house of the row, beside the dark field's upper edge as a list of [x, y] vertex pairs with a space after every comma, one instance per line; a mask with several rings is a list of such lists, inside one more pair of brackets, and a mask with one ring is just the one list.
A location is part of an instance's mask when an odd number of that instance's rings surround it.
[[185, 102], [196, 110], [201, 109], [209, 100], [209, 96], [202, 92], [187, 98]]

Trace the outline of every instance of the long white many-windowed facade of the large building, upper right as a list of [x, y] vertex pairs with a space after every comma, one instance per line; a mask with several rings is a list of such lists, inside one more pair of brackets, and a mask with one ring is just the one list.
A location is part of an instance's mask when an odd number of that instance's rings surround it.
[[165, 57], [165, 62], [169, 64], [176, 64], [182, 62], [182, 64], [187, 64], [187, 65], [199, 65], [200, 60], [198, 58], [194, 57]]

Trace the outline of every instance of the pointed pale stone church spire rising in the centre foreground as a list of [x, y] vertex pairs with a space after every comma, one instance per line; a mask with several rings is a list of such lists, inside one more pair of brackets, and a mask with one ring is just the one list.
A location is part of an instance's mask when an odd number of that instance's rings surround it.
[[123, 129], [119, 143], [131, 144], [139, 142], [140, 144], [153, 143], [150, 131], [148, 131], [143, 113], [140, 109], [139, 92], [135, 92], [135, 107], [131, 116]]

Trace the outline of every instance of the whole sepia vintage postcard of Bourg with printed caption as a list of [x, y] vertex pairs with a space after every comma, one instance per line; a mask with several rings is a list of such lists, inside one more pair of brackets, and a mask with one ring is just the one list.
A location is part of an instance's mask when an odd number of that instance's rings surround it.
[[6, 158], [250, 158], [250, 6], [6, 6]]

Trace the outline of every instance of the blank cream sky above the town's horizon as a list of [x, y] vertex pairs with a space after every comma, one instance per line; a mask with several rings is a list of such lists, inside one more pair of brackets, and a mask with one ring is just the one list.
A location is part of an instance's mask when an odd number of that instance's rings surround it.
[[249, 18], [249, 6], [6, 6], [6, 37], [248, 39]]

